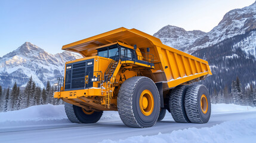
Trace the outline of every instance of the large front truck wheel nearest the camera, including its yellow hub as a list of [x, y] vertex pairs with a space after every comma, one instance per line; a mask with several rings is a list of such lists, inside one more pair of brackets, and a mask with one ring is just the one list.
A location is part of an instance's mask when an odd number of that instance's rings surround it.
[[160, 96], [148, 77], [125, 80], [118, 93], [118, 113], [128, 127], [147, 128], [155, 125], [160, 112]]

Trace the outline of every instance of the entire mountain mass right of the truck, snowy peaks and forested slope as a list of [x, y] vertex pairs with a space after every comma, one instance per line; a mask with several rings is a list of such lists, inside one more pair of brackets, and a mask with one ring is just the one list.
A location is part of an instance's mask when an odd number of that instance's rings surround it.
[[229, 11], [208, 33], [165, 26], [153, 36], [166, 45], [207, 60], [213, 75], [201, 83], [211, 94], [223, 92], [225, 87], [230, 91], [237, 76], [243, 89], [250, 84], [256, 86], [256, 2]]

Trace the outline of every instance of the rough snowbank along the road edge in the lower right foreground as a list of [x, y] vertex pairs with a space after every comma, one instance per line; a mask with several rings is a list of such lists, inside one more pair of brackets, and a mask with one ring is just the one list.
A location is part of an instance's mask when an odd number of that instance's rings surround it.
[[255, 119], [243, 119], [224, 122], [211, 128], [189, 128], [153, 136], [132, 136], [119, 141], [106, 139], [102, 142], [255, 142], [255, 126]]

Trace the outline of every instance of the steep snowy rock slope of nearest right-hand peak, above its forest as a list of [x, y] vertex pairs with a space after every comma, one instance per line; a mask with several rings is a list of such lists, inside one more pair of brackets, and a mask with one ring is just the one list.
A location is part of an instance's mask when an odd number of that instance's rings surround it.
[[226, 13], [218, 26], [203, 37], [196, 39], [187, 52], [206, 48], [225, 39], [256, 29], [256, 2], [249, 7], [235, 9]]

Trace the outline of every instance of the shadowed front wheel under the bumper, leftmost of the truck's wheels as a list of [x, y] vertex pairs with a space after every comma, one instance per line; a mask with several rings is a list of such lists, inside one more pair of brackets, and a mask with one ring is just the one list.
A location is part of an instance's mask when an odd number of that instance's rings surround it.
[[69, 104], [64, 104], [67, 118], [73, 123], [96, 123], [100, 120], [103, 111], [87, 111], [82, 107]]

